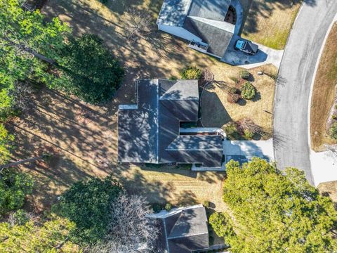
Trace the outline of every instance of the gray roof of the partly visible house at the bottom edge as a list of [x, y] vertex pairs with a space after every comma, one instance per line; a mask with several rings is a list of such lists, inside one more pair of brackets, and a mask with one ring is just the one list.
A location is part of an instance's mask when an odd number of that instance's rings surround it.
[[186, 207], [179, 212], [173, 211], [164, 219], [159, 219], [159, 239], [163, 249], [163, 237], [169, 253], [190, 253], [209, 249], [209, 231], [206, 210], [202, 205]]

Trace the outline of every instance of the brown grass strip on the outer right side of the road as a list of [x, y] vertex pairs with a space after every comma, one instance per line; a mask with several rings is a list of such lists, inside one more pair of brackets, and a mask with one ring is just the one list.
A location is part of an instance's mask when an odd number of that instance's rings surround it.
[[326, 121], [329, 117], [335, 86], [337, 84], [337, 23], [332, 27], [326, 41], [312, 91], [310, 135], [311, 146], [315, 151], [325, 150], [324, 144], [337, 144], [336, 140], [326, 133]]

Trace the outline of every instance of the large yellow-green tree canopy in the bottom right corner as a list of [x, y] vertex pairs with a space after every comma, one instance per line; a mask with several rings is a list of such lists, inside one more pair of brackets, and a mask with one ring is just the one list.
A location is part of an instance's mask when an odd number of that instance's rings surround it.
[[[275, 164], [254, 158], [227, 164], [223, 200], [233, 221], [216, 218], [231, 252], [336, 252], [337, 212], [329, 197], [306, 181], [303, 171], [282, 174]], [[220, 229], [223, 226], [233, 226]], [[231, 225], [234, 224], [234, 225]], [[232, 233], [234, 231], [235, 233]]]

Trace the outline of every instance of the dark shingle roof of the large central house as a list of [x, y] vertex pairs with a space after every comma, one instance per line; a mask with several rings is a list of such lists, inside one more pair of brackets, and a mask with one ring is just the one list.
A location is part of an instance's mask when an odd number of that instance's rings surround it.
[[136, 82], [137, 105], [120, 105], [119, 162], [201, 163], [220, 167], [221, 136], [180, 136], [180, 122], [197, 122], [197, 80]]

